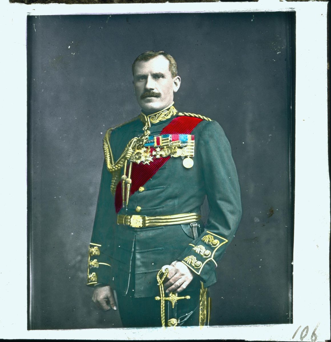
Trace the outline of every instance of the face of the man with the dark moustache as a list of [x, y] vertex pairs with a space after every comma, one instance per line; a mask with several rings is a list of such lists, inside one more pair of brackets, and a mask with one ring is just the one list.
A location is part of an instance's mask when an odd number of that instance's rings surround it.
[[133, 70], [133, 89], [139, 106], [146, 113], [169, 106], [179, 86], [180, 77], [171, 76], [169, 61], [164, 56], [136, 63]]

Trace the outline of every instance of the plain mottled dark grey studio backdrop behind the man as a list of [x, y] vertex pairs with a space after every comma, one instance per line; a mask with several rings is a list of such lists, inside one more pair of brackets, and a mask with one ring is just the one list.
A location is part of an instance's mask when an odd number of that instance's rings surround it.
[[87, 250], [102, 138], [139, 114], [131, 64], [145, 50], [175, 57], [177, 109], [217, 120], [238, 170], [243, 216], [217, 268], [210, 324], [291, 321], [290, 19], [28, 16], [30, 329], [121, 327], [118, 312], [91, 302]]

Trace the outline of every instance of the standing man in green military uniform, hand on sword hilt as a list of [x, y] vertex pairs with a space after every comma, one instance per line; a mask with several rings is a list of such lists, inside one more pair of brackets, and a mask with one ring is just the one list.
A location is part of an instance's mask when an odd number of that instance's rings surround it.
[[173, 57], [144, 52], [132, 73], [142, 111], [105, 134], [87, 284], [104, 310], [117, 310], [116, 290], [124, 327], [205, 325], [241, 218], [231, 148], [217, 122], [175, 109]]

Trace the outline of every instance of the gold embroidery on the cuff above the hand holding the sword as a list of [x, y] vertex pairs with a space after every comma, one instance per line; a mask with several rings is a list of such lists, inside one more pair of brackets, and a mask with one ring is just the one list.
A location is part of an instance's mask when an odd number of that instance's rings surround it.
[[[205, 236], [202, 238], [202, 240], [203, 240], [206, 244], [209, 244], [209, 245], [211, 245], [212, 247], [215, 248], [215, 249], [213, 250], [213, 253], [211, 254], [211, 256], [210, 256], [209, 258], [207, 257], [208, 259], [206, 259], [203, 263], [202, 263], [201, 261], [198, 261], [193, 255], [190, 255], [190, 256], [184, 258], [184, 260], [182, 260], [182, 263], [184, 263], [186, 266], [188, 266], [188, 267], [189, 267], [194, 273], [196, 273], [196, 274], [200, 274], [201, 271], [202, 271], [202, 269], [203, 269], [203, 267], [204, 267], [204, 265], [206, 264], [206, 262], [208, 262], [208, 261], [210, 261], [210, 260], [212, 260], [212, 261], [215, 263], [216, 267], [217, 267], [217, 263], [216, 263], [216, 261], [214, 260], [215, 252], [218, 250], [219, 247], [221, 247], [222, 245], [224, 245], [224, 244], [226, 244], [227, 242], [229, 242], [226, 238], [221, 237], [221, 236], [219, 236], [219, 235], [217, 235], [217, 234], [215, 234], [215, 233], [208, 232], [208, 231], [207, 231], [207, 233], [208, 233], [208, 235], [205, 235]], [[219, 239], [220, 239], [221, 241], [223, 241], [223, 242], [220, 242], [219, 240], [215, 239], [214, 236], [217, 237], [217, 238], [219, 238]], [[192, 245], [192, 244], [189, 244], [189, 245], [190, 245], [190, 246], [193, 246], [192, 249], [193, 249], [195, 252], [201, 254], [201, 251], [202, 251], [202, 249], [200, 250], [201, 245], [199, 245], [199, 246], [194, 246], [194, 245]], [[196, 247], [198, 247], [198, 248], [195, 250]], [[203, 246], [202, 246], [202, 247], [203, 247]], [[197, 250], [199, 250], [199, 252], [198, 252]], [[207, 251], [207, 250], [206, 250], [206, 251]], [[202, 255], [202, 254], [201, 254], [201, 255]], [[202, 256], [203, 256], [203, 255], [202, 255]], [[193, 258], [194, 258], [194, 259], [193, 259]], [[200, 264], [199, 264], [199, 263], [200, 263]], [[192, 265], [193, 267], [192, 267], [191, 265]], [[199, 265], [199, 266], [197, 266], [197, 265]], [[196, 268], [199, 268], [199, 272], [196, 271]]]

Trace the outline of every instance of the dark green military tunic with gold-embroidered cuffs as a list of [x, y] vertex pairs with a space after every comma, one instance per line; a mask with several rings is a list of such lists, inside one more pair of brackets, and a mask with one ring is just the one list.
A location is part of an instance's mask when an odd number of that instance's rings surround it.
[[[160, 134], [172, 119], [152, 124], [151, 135]], [[112, 132], [114, 160], [120, 157], [130, 139], [143, 133], [143, 126], [137, 118]], [[88, 285], [109, 284], [118, 293], [126, 294], [130, 274], [134, 272], [135, 297], [158, 295], [156, 274], [163, 265], [175, 260], [182, 261], [196, 275], [187, 290], [200, 280], [205, 287], [216, 282], [217, 262], [241, 219], [238, 176], [230, 144], [216, 121], [200, 122], [191, 134], [195, 136], [193, 167], [184, 168], [180, 157], [170, 158], [144, 184], [143, 191], [130, 196], [128, 209], [121, 209], [119, 214], [137, 215], [138, 206], [139, 215], [147, 216], [200, 213], [207, 196], [209, 216], [205, 227], [202, 221], [198, 222], [200, 236], [193, 238], [190, 224], [148, 228], [118, 225], [110, 191], [112, 175], [104, 163], [90, 245], [90, 248], [93, 244], [101, 245], [100, 255], [90, 257], [88, 274], [94, 275], [88, 279]], [[94, 258], [98, 268], [93, 267]]]

